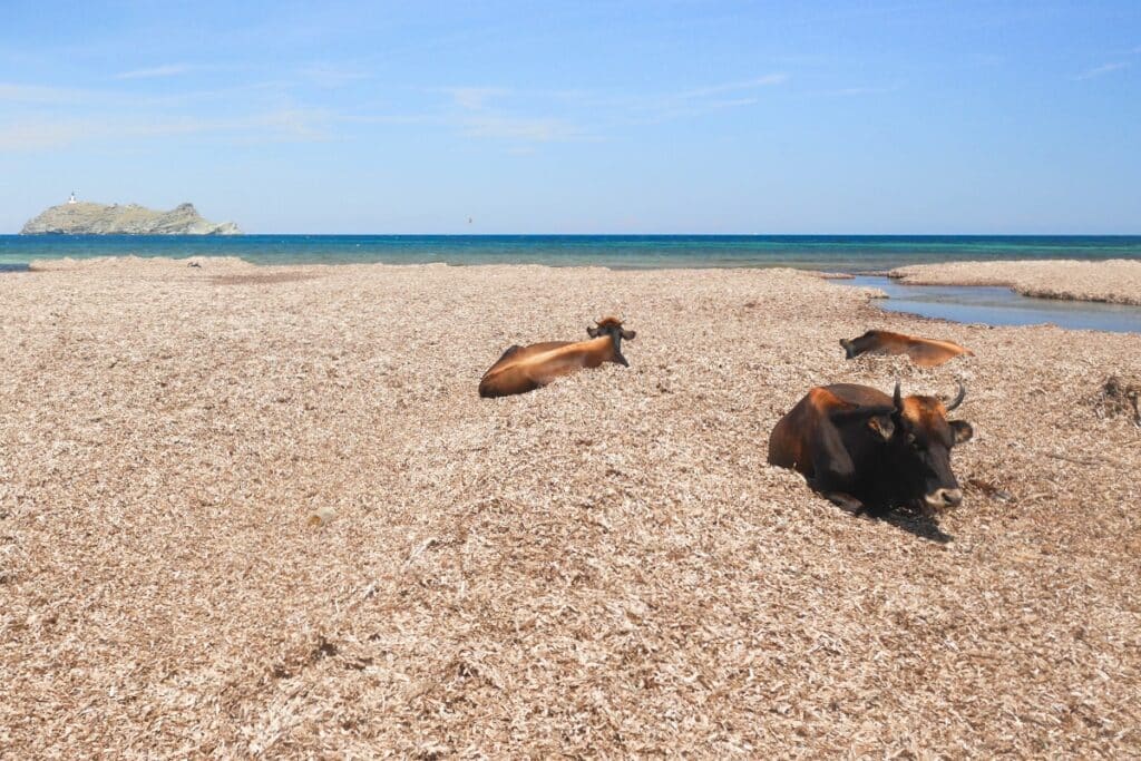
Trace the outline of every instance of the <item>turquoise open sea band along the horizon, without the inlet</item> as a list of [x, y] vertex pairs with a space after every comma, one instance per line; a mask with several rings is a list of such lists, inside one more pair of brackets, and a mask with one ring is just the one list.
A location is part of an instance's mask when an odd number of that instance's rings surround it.
[[62, 257], [230, 256], [258, 265], [540, 264], [799, 267], [867, 273], [964, 259], [1141, 259], [1141, 236], [872, 235], [2, 235], [0, 268]]

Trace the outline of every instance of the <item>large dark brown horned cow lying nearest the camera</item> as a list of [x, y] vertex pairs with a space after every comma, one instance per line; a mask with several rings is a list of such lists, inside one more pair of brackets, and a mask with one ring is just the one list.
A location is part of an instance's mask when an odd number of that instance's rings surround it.
[[950, 450], [974, 431], [948, 421], [966, 389], [948, 404], [931, 396], [901, 397], [867, 386], [811, 389], [769, 437], [769, 463], [802, 473], [809, 486], [852, 512], [914, 505], [924, 513], [953, 508], [963, 493]]

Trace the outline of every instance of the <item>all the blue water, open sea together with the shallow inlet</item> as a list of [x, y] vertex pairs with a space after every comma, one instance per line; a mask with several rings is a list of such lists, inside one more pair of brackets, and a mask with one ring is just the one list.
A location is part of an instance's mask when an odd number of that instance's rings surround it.
[[254, 265], [385, 262], [658, 269], [794, 267], [858, 275], [888, 310], [990, 325], [1141, 332], [1141, 309], [1027, 299], [1005, 288], [904, 286], [895, 267], [942, 261], [1141, 259], [1141, 235], [2, 235], [0, 273], [63, 257], [237, 257]]

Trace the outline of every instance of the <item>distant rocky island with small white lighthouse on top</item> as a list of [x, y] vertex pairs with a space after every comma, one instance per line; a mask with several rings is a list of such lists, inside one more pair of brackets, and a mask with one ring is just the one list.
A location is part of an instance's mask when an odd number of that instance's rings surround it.
[[203, 219], [194, 204], [154, 211], [137, 203], [68, 201], [27, 221], [21, 235], [241, 235], [234, 222]]

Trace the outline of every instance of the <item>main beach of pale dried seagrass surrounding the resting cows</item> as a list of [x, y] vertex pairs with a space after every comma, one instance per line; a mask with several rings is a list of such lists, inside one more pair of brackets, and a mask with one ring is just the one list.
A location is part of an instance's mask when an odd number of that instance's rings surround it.
[[[792, 270], [195, 264], [0, 277], [0, 755], [1141, 754], [1141, 335]], [[477, 397], [609, 314], [629, 369]], [[845, 362], [873, 327], [977, 356]], [[896, 379], [969, 389], [938, 526], [766, 464], [811, 386]]]

